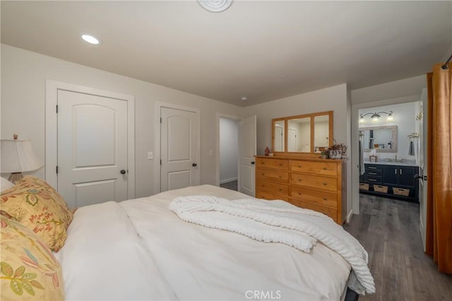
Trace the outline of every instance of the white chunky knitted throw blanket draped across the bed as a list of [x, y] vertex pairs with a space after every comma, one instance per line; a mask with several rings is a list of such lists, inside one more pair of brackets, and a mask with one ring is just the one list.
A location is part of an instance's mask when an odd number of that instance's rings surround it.
[[261, 242], [280, 242], [303, 252], [309, 252], [319, 240], [352, 266], [349, 288], [360, 295], [375, 293], [366, 250], [322, 213], [285, 201], [230, 201], [215, 196], [179, 196], [169, 204], [169, 210], [189, 223], [237, 232]]

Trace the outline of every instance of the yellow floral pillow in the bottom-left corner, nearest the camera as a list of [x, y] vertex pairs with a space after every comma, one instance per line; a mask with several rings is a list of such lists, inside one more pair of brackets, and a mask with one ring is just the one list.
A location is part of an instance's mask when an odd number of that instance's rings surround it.
[[0, 216], [1, 300], [64, 300], [61, 267], [35, 233]]

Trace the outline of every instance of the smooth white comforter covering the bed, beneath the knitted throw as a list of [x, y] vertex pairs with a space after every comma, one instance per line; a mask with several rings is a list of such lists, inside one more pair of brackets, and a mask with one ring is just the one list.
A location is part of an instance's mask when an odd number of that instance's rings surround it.
[[243, 199], [210, 185], [79, 208], [64, 247], [66, 300], [340, 300], [350, 264], [317, 242], [311, 252], [185, 223], [177, 196]]

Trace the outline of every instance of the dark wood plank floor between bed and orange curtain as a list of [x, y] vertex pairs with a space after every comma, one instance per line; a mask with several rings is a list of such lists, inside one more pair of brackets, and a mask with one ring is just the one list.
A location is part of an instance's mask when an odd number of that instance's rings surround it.
[[419, 205], [361, 194], [361, 213], [344, 229], [369, 253], [376, 293], [367, 300], [452, 300], [452, 276], [440, 273], [424, 254]]

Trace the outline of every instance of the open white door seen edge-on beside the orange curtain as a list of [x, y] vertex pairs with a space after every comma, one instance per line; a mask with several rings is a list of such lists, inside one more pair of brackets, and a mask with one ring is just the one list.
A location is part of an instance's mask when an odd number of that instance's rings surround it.
[[420, 232], [425, 251], [425, 239], [427, 236], [427, 89], [421, 94], [422, 119], [419, 128], [419, 208], [420, 208]]

